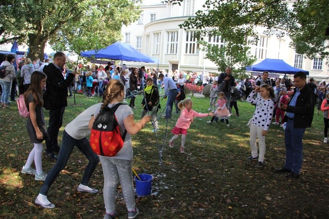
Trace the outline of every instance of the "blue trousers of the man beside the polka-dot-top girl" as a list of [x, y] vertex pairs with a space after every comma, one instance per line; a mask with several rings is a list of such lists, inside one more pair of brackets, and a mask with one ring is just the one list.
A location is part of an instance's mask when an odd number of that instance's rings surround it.
[[294, 128], [294, 120], [287, 120], [284, 132], [284, 143], [286, 145], [286, 162], [284, 166], [294, 173], [300, 173], [303, 161], [302, 139], [306, 128]]

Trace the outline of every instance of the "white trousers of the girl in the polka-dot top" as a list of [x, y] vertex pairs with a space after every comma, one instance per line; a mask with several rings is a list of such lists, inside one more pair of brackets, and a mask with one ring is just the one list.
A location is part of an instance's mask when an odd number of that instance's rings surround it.
[[258, 144], [259, 144], [259, 158], [258, 161], [263, 162], [265, 159], [265, 138], [266, 136], [262, 135], [263, 128], [256, 126], [254, 124], [251, 124], [250, 126], [250, 147], [251, 147], [251, 155], [255, 158], [257, 157], [257, 143], [256, 139], [258, 137]]

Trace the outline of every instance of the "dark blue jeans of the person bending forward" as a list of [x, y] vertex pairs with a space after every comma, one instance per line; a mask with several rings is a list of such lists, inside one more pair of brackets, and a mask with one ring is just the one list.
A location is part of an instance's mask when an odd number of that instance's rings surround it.
[[58, 156], [58, 160], [57, 160], [55, 166], [53, 166], [53, 168], [49, 171], [49, 173], [46, 177], [46, 180], [42, 184], [41, 190], [40, 190], [41, 194], [43, 194], [43, 195], [48, 194], [49, 188], [54, 183], [54, 181], [55, 181], [56, 177], [58, 176], [58, 174], [60, 173], [60, 171], [65, 168], [67, 161], [68, 161], [69, 157], [71, 156], [72, 151], [75, 146], [77, 146], [79, 148], [79, 150], [89, 160], [89, 163], [85, 169], [85, 173], [84, 173], [84, 176], [82, 177], [82, 181], [81, 181], [82, 185], [88, 186], [90, 177], [99, 162], [99, 158], [91, 150], [90, 143], [89, 143], [89, 140], [87, 139], [87, 137], [84, 137], [84, 138], [78, 140], [78, 139], [75, 139], [75, 138], [69, 136], [64, 130], [63, 140], [62, 140], [62, 145], [60, 147], [60, 154]]

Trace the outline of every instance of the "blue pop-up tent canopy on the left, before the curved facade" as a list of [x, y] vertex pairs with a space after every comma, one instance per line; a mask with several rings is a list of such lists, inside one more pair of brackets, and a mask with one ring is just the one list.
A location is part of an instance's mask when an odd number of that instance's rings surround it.
[[141, 61], [141, 62], [152, 62], [159, 63], [159, 59], [144, 55], [128, 43], [116, 42], [111, 46], [98, 51], [90, 50], [81, 52], [83, 57], [95, 57], [95, 58], [107, 58], [121, 61]]

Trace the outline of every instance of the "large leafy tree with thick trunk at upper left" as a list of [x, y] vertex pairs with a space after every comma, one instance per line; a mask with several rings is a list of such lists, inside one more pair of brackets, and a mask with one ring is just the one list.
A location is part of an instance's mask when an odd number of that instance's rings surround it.
[[[29, 56], [42, 58], [49, 40], [56, 50], [99, 49], [120, 39], [121, 26], [138, 19], [139, 0], [4, 1], [0, 44], [18, 39]], [[132, 13], [132, 11], [134, 13]]]

